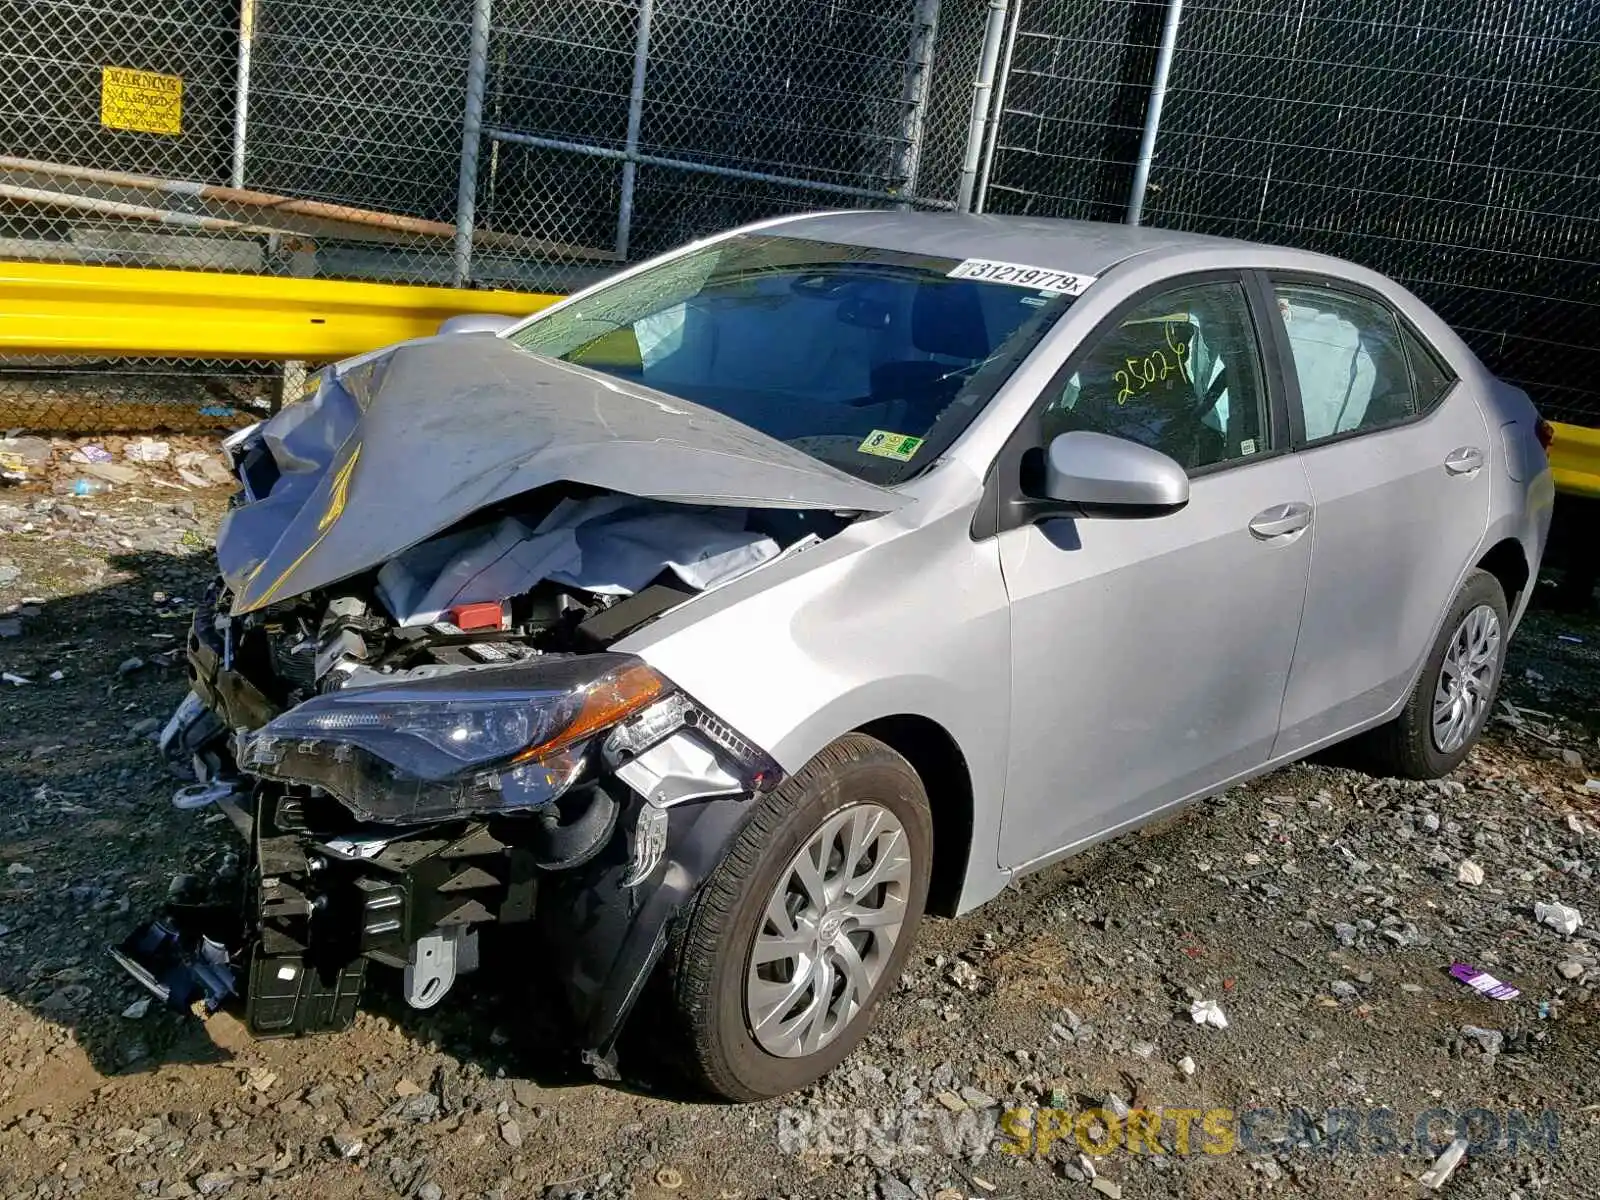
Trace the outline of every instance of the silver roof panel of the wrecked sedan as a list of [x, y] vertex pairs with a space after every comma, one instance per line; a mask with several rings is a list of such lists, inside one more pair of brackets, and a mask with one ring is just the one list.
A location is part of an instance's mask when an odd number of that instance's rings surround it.
[[1099, 275], [1123, 259], [1152, 250], [1240, 250], [1251, 245], [1176, 229], [971, 213], [813, 213], [768, 226], [766, 230], [907, 254], [1021, 262], [1078, 275]]

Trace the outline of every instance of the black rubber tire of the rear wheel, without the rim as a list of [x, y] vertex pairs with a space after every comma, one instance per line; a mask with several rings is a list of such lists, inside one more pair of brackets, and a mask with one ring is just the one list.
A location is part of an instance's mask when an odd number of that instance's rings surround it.
[[[1499, 658], [1494, 662], [1494, 675], [1488, 686], [1488, 702], [1483, 706], [1475, 725], [1469, 730], [1467, 739], [1451, 752], [1443, 752], [1434, 741], [1432, 709], [1434, 690], [1438, 686], [1440, 670], [1445, 664], [1445, 653], [1466, 616], [1478, 605], [1494, 610], [1499, 621]], [[1506, 645], [1510, 640], [1510, 621], [1506, 613], [1506, 592], [1488, 571], [1474, 570], [1456, 594], [1456, 603], [1450, 606], [1450, 614], [1438, 630], [1434, 650], [1422, 664], [1406, 706], [1387, 725], [1373, 730], [1363, 739], [1362, 750], [1368, 766], [1382, 774], [1397, 774], [1405, 779], [1438, 779], [1454, 771], [1472, 752], [1490, 714], [1494, 710], [1494, 698], [1499, 694], [1501, 675], [1506, 669]]]

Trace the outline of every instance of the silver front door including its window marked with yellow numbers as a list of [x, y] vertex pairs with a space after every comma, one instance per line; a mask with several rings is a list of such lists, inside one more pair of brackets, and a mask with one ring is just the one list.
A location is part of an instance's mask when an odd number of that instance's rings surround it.
[[1310, 570], [1310, 486], [1274, 429], [1238, 280], [1138, 301], [1042, 398], [1038, 440], [1091, 429], [1190, 472], [1158, 517], [1000, 533], [1011, 597], [1014, 867], [1267, 760]]

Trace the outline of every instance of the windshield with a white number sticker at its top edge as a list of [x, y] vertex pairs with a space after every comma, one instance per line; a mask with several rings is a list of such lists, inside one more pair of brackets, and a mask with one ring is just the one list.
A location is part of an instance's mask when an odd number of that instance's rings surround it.
[[954, 258], [739, 234], [510, 334], [896, 483], [960, 434], [1072, 302]]

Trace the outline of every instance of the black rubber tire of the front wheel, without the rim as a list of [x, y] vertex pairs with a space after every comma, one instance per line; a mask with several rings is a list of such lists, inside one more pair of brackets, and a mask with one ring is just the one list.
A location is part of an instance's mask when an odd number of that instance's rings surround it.
[[[797, 1058], [768, 1053], [746, 1018], [749, 955], [768, 898], [832, 814], [864, 803], [890, 810], [906, 832], [910, 882], [899, 936], [869, 1002], [832, 1042]], [[762, 798], [667, 952], [675, 1050], [694, 1082], [725, 1099], [755, 1101], [803, 1088], [838, 1066], [901, 976], [926, 904], [931, 864], [928, 794], [912, 765], [875, 738], [840, 738]]]

